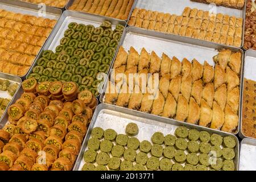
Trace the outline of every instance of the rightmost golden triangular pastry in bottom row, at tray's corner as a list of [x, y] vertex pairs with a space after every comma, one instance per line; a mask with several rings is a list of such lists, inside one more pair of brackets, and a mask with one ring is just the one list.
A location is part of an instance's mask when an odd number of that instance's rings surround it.
[[225, 108], [225, 119], [221, 131], [232, 133], [238, 126], [238, 115], [234, 113], [229, 105]]

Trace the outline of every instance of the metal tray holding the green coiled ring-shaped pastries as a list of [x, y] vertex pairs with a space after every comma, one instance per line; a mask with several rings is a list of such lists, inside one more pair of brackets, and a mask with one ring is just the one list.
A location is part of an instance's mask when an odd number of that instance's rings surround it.
[[[43, 51], [45, 50], [52, 50], [55, 51], [55, 48], [59, 46], [60, 39], [64, 37], [65, 30], [68, 29], [68, 24], [71, 22], [77, 22], [77, 23], [84, 23], [84, 24], [92, 24], [93, 26], [100, 26], [101, 23], [104, 20], [109, 20], [112, 23], [112, 27], [114, 28], [115, 25], [122, 24], [123, 26], [126, 26], [126, 22], [121, 20], [113, 20], [111, 18], [105, 18], [95, 15], [88, 15], [88, 14], [81, 14], [76, 11], [69, 11], [66, 10], [61, 15], [59, 22], [56, 24], [55, 29], [52, 31], [52, 34], [49, 36], [46, 44], [44, 44], [44, 47], [42, 51], [39, 53], [38, 57], [36, 57], [36, 60], [32, 67], [30, 68], [30, 71], [27, 74], [27, 77], [32, 73], [32, 69], [36, 66], [38, 60], [42, 56]], [[115, 51], [115, 53], [117, 50]], [[113, 59], [114, 60], [114, 59]], [[113, 62], [112, 60], [112, 62]], [[110, 64], [111, 65], [111, 64]]]

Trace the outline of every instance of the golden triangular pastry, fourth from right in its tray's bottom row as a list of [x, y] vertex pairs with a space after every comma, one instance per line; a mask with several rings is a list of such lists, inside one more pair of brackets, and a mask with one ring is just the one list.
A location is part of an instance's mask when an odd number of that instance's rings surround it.
[[196, 124], [200, 119], [200, 107], [196, 103], [196, 101], [193, 99], [193, 97], [190, 98], [189, 101], [189, 111], [188, 111], [188, 123]]

